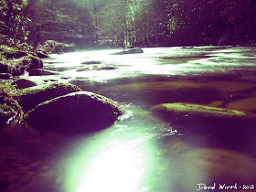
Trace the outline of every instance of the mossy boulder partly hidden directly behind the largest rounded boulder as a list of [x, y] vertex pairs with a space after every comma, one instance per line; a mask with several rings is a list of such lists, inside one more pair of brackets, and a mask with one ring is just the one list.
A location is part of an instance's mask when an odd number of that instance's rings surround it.
[[62, 82], [50, 82], [44, 85], [24, 89], [19, 96], [19, 104], [23, 109], [29, 111], [43, 101], [48, 101], [76, 91], [81, 90], [75, 85]]

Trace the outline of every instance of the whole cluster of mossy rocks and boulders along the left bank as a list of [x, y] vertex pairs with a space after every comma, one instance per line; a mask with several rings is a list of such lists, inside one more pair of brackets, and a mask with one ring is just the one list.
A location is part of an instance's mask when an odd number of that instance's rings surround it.
[[13, 80], [13, 76], [25, 73], [29, 76], [55, 74], [43, 69], [41, 59], [48, 58], [50, 53], [74, 50], [72, 45], [48, 40], [34, 52], [7, 46], [1, 46], [0, 50], [1, 128], [16, 121], [34, 127], [51, 127], [59, 132], [82, 133], [110, 126], [125, 113], [114, 101], [82, 92], [69, 83]]

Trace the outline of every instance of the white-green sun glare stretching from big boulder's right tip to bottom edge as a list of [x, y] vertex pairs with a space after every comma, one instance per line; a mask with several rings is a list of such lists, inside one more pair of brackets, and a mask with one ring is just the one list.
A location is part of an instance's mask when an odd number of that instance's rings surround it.
[[[101, 133], [83, 137], [66, 158], [67, 192], [145, 192], [145, 181], [158, 153], [156, 140], [172, 133], [169, 126], [156, 121], [149, 112], [133, 105], [129, 119]], [[176, 134], [175, 132], [172, 134]], [[67, 160], [68, 159], [68, 160]], [[152, 171], [150, 171], [152, 173]], [[151, 176], [150, 176], [151, 178]], [[147, 180], [147, 179], [146, 179]], [[68, 190], [66, 190], [68, 189]]]

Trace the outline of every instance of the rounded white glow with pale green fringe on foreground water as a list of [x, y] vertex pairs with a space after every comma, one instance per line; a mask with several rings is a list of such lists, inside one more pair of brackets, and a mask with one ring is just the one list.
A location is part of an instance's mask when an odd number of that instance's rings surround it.
[[65, 162], [67, 192], [146, 191], [142, 178], [149, 150], [144, 138], [141, 133], [125, 135], [127, 127], [117, 132], [116, 126], [76, 144], [79, 147]]

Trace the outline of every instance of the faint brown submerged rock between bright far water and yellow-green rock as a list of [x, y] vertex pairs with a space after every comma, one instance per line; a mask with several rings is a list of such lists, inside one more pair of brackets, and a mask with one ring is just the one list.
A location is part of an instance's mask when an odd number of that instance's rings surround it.
[[165, 102], [207, 104], [221, 99], [219, 90], [192, 80], [133, 82], [102, 88], [101, 91], [119, 92], [125, 100], [140, 100], [151, 105]]

